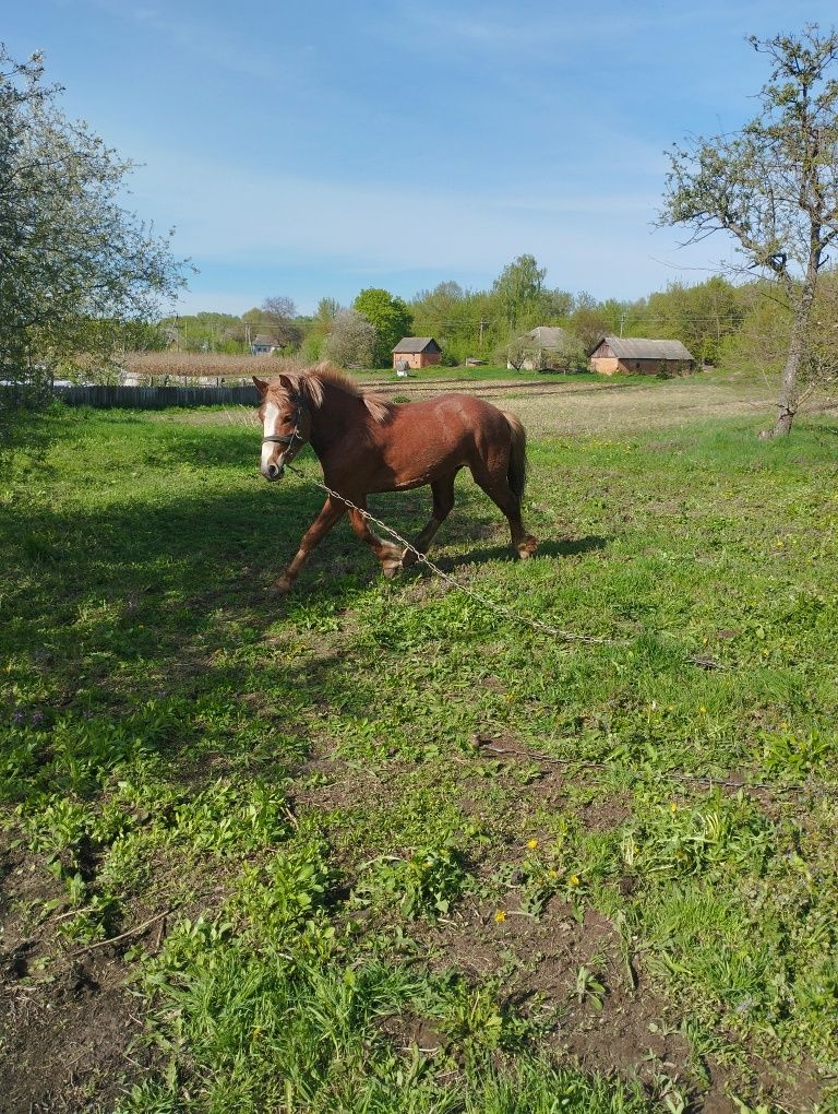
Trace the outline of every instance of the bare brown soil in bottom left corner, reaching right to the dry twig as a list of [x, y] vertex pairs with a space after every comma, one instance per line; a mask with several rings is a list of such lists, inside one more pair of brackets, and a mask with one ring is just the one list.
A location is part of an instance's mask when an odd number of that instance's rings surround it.
[[[197, 918], [221, 905], [237, 868], [227, 874], [195, 864], [178, 916]], [[183, 863], [156, 863], [168, 901]], [[109, 1110], [132, 1079], [155, 1065], [138, 1037], [145, 1019], [130, 990], [134, 968], [125, 956], [141, 945], [156, 952], [172, 918], [146, 895], [126, 909], [112, 941], [85, 946], [61, 935], [71, 912], [63, 887], [39, 856], [0, 851], [0, 1114], [79, 1114]], [[48, 902], [57, 901], [46, 910]]]

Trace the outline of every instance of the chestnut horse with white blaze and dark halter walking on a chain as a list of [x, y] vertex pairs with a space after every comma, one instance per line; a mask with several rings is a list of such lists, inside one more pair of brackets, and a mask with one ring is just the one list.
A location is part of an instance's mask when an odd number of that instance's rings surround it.
[[[526, 434], [512, 414], [471, 394], [441, 394], [398, 405], [365, 394], [351, 379], [322, 365], [283, 374], [270, 382], [254, 377], [262, 405], [262, 475], [278, 480], [284, 466], [308, 442], [326, 485], [366, 509], [374, 491], [404, 491], [431, 485], [433, 515], [414, 545], [424, 554], [454, 506], [454, 477], [469, 468], [476, 483], [509, 519], [512, 546], [521, 557], [535, 550], [535, 538], [521, 522], [526, 472]], [[308, 527], [277, 589], [288, 592], [314, 547], [347, 507], [329, 496]], [[382, 541], [357, 510], [353, 530], [373, 550], [385, 576], [416, 560], [410, 549]]]

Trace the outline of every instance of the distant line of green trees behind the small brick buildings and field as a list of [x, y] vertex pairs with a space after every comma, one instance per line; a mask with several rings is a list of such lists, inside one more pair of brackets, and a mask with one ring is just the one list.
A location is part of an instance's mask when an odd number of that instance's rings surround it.
[[[535, 258], [523, 255], [487, 290], [465, 290], [448, 280], [405, 301], [368, 289], [349, 306], [323, 297], [310, 315], [297, 314], [289, 299], [266, 299], [263, 307], [241, 316], [207, 312], [167, 317], [146, 331], [139, 346], [235, 353], [246, 352], [257, 335], [267, 335], [283, 352], [299, 352], [313, 362], [335, 359], [388, 367], [393, 346], [414, 335], [433, 336], [451, 364], [470, 358], [505, 363], [519, 338], [549, 325], [566, 331], [571, 362], [579, 367], [602, 336], [614, 335], [679, 340], [699, 364], [772, 372], [788, 345], [792, 299], [765, 280], [733, 284], [714, 275], [693, 284], [673, 281], [635, 300], [599, 301], [584, 291], [551, 289], [544, 276]], [[278, 301], [286, 303], [285, 316], [265, 309]], [[824, 358], [838, 333], [837, 304], [838, 273], [832, 271], [822, 276], [815, 314]], [[365, 332], [357, 316], [374, 333]]]

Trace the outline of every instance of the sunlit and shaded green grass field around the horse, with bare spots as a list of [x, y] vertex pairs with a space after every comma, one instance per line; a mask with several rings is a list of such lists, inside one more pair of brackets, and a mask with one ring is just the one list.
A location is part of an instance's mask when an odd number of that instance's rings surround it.
[[689, 385], [510, 389], [540, 553], [465, 477], [440, 534], [602, 644], [384, 582], [345, 522], [269, 598], [319, 497], [241, 413], [33, 427], [3, 1110], [838, 1110], [838, 424], [758, 441], [758, 389]]

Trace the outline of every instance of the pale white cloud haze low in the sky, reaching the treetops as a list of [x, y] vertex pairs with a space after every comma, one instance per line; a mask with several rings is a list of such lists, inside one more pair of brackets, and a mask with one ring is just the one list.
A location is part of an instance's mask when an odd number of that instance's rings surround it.
[[[344, 289], [353, 274], [366, 276], [361, 285], [371, 277], [376, 284], [377, 275], [393, 276], [402, 289], [410, 284], [412, 292], [427, 284], [416, 280], [420, 273], [436, 281], [483, 274], [489, 284], [510, 260], [532, 252], [556, 285], [639, 296], [674, 276], [658, 258], [674, 267], [707, 262], [694, 252], [676, 253], [674, 233], [652, 227], [657, 194], [623, 194], [619, 180], [599, 195], [563, 195], [560, 188], [480, 194], [336, 183], [158, 155], [154, 178], [147, 168], [136, 185], [142, 211], [165, 205], [165, 219], [178, 228], [176, 250], [216, 282], [225, 268], [263, 275], [316, 268], [341, 276]], [[323, 285], [327, 293], [329, 280]]]

